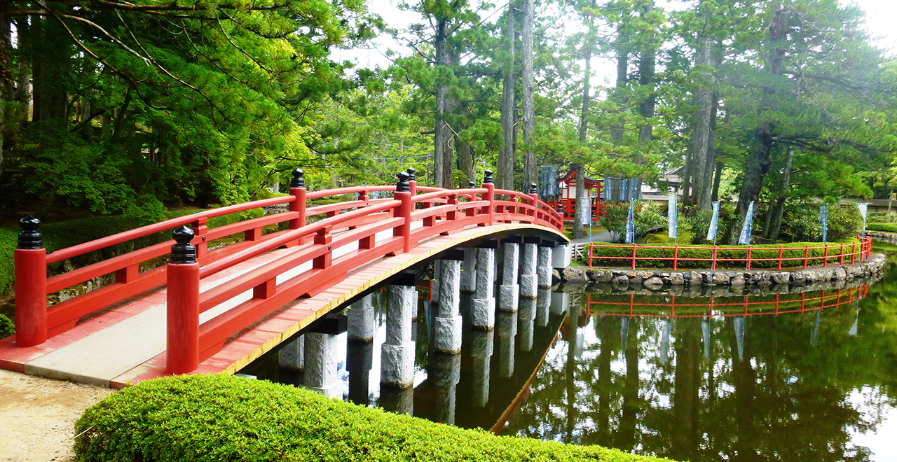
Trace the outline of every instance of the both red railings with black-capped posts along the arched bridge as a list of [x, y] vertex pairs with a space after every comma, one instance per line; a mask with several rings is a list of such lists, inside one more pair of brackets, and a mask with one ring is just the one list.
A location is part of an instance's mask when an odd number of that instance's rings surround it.
[[[539, 201], [533, 189], [530, 194], [495, 190], [492, 172], [488, 170], [482, 187], [458, 190], [418, 187], [414, 177], [403, 172], [396, 186], [360, 186], [309, 193], [302, 174], [300, 169], [293, 172], [287, 196], [173, 218], [49, 254], [42, 247], [37, 231], [39, 221], [23, 218], [19, 248], [15, 251], [16, 344], [39, 345], [72, 329], [86, 314], [167, 284], [168, 369], [189, 372], [219, 351], [227, 338], [284, 304], [301, 295], [318, 294], [362, 264], [385, 255], [409, 252], [428, 237], [450, 235], [465, 227], [512, 222], [541, 225], [559, 234], [563, 229], [563, 218]], [[370, 193], [375, 191], [393, 192], [394, 197], [370, 199]], [[507, 195], [508, 199], [497, 201], [496, 193]], [[307, 206], [309, 200], [344, 194], [358, 194], [358, 198]], [[213, 229], [206, 227], [209, 218], [276, 204], [288, 204], [289, 211]], [[313, 216], [321, 219], [307, 223], [307, 218]], [[263, 235], [263, 227], [278, 223], [286, 223], [287, 229]], [[172, 241], [47, 278], [48, 264], [172, 228], [176, 228]], [[378, 233], [390, 229], [390, 237], [376, 239]], [[214, 239], [239, 233], [243, 233], [242, 242], [208, 249]], [[336, 249], [355, 243], [357, 250], [335, 254]], [[200, 294], [201, 278], [282, 246], [301, 248]], [[142, 262], [169, 253], [168, 265], [140, 272]], [[308, 262], [310, 270], [277, 285], [278, 276]], [[116, 275], [114, 283], [48, 309], [48, 294], [110, 273]], [[249, 289], [251, 298], [234, 300]], [[199, 322], [201, 312], [228, 301], [236, 305], [209, 321]]]

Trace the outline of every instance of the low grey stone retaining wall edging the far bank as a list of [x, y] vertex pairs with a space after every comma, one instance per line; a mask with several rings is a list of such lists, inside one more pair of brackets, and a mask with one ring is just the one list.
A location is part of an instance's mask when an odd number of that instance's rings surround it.
[[[665, 287], [769, 287], [786, 285], [814, 286], [827, 281], [852, 281], [879, 278], [884, 271], [884, 255], [872, 254], [865, 261], [828, 267], [812, 267], [793, 271], [778, 270], [623, 270], [569, 266], [555, 270], [563, 282], [604, 283], [618, 288], [644, 287], [659, 291]], [[805, 288], [806, 290], [806, 288]]]

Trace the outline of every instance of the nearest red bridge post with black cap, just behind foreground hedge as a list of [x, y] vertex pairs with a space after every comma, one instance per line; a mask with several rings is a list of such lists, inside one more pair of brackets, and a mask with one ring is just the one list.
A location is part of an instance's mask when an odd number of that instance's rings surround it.
[[199, 366], [199, 263], [193, 230], [179, 227], [171, 235], [168, 265], [167, 363], [169, 373], [187, 373]]

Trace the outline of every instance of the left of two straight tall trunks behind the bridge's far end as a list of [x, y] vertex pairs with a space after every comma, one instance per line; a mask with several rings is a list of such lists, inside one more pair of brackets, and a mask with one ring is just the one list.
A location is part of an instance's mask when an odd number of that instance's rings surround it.
[[508, 23], [505, 26], [505, 40], [508, 41], [508, 59], [504, 63], [504, 80], [501, 83], [501, 139], [504, 144], [499, 150], [499, 165], [495, 172], [495, 186], [499, 189], [514, 189], [514, 159], [517, 152], [514, 150], [514, 126], [517, 107], [514, 103], [514, 90], [516, 80], [514, 78], [514, 41], [517, 32], [514, 25], [514, 2], [508, 4]]

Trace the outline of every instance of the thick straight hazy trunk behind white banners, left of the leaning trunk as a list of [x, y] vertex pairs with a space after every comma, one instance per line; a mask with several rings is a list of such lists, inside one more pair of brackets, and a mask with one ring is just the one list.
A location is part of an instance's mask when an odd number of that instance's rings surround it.
[[[710, 37], [701, 37], [698, 41], [698, 53], [695, 55], [695, 65], [712, 65], [710, 56]], [[710, 172], [713, 166], [713, 146], [710, 145], [710, 122], [712, 120], [713, 92], [710, 85], [710, 73], [701, 71], [701, 84], [698, 86], [696, 103], [698, 116], [695, 120], [692, 132], [694, 150], [694, 195], [695, 204], [699, 210], [710, 210]]]

